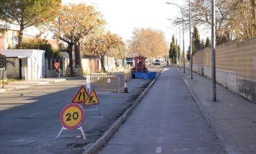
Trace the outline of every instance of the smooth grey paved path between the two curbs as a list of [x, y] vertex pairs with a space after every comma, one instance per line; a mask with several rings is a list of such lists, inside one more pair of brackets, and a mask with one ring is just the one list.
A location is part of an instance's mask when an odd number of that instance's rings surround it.
[[163, 73], [98, 153], [225, 153], [176, 69]]

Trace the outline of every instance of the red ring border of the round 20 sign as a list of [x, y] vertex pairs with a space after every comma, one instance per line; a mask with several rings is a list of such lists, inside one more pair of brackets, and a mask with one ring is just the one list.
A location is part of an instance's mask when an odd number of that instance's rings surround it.
[[[65, 124], [65, 122], [63, 121], [63, 115], [64, 115], [64, 112], [66, 111], [67, 108], [70, 108], [70, 107], [77, 107], [80, 112], [81, 112], [81, 119], [80, 119], [80, 122], [78, 122], [75, 126], [67, 126]], [[81, 126], [81, 124], [84, 122], [84, 110], [83, 108], [79, 105], [79, 104], [68, 104], [66, 105], [63, 109], [62, 109], [62, 112], [60, 113], [60, 123], [62, 124], [62, 126], [64, 126], [64, 128], [66, 129], [75, 129], [75, 128], [78, 128], [79, 126]]]

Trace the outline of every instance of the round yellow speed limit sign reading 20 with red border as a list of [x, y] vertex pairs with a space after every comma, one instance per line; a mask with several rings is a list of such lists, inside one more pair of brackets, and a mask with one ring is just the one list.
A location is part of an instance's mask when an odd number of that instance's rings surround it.
[[67, 129], [75, 129], [84, 122], [84, 110], [79, 104], [68, 104], [60, 113], [60, 122]]

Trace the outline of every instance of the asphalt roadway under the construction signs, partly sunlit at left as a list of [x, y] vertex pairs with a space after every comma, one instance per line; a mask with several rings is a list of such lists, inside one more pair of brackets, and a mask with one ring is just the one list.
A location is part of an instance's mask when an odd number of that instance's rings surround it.
[[129, 93], [101, 92], [101, 115], [93, 110], [95, 106], [84, 112], [86, 141], [77, 130], [63, 131], [55, 139], [62, 128], [61, 110], [85, 84], [84, 78], [0, 93], [0, 153], [82, 153], [84, 146], [95, 142], [149, 83], [150, 80], [133, 79], [128, 84]]

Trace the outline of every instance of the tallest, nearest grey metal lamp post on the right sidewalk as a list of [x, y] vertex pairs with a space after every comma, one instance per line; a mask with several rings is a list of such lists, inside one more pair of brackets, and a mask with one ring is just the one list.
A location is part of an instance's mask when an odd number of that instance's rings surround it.
[[215, 66], [215, 0], [212, 0], [212, 101], [216, 102], [216, 66]]

